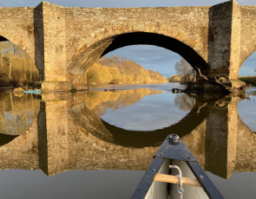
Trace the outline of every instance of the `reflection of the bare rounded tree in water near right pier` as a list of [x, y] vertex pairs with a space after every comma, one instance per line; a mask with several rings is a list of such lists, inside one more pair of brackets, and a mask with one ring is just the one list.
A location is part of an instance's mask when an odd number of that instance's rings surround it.
[[174, 99], [175, 106], [179, 106], [179, 109], [184, 112], [189, 112], [194, 108], [195, 99], [188, 96], [186, 93], [179, 93]]

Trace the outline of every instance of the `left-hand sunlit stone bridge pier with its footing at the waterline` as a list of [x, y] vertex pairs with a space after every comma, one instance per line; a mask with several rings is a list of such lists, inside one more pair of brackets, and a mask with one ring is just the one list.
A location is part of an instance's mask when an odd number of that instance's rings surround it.
[[35, 60], [44, 91], [88, 88], [85, 75], [66, 70], [65, 20], [65, 8], [59, 5], [43, 2], [34, 10]]

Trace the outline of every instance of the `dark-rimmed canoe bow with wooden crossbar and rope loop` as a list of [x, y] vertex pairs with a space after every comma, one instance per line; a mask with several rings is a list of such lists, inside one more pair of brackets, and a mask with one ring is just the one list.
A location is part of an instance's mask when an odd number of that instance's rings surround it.
[[130, 198], [224, 199], [176, 134], [169, 135], [161, 144]]

